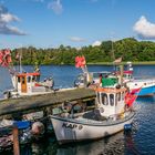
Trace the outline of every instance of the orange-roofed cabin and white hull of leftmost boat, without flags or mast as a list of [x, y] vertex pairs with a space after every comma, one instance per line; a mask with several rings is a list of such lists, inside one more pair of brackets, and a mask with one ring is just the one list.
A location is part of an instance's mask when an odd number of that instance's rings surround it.
[[11, 75], [13, 89], [4, 92], [4, 97], [20, 97], [25, 95], [39, 95], [50, 93], [53, 87], [53, 80], [40, 82], [40, 72], [13, 73]]

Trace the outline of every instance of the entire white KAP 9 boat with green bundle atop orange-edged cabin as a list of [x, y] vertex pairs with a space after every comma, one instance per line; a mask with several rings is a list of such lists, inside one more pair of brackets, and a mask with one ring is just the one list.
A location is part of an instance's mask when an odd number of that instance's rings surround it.
[[94, 89], [94, 110], [74, 114], [78, 110], [74, 104], [70, 113], [50, 116], [59, 144], [102, 138], [123, 131], [133, 122], [133, 103], [140, 90], [127, 92], [116, 80], [102, 79], [102, 85]]

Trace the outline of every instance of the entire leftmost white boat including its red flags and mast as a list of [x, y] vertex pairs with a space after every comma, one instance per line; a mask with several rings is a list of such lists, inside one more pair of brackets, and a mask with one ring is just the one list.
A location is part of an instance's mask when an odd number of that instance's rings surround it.
[[[19, 53], [18, 53], [19, 54]], [[21, 56], [19, 55], [19, 71], [12, 65], [11, 51], [8, 49], [0, 51], [0, 65], [8, 68], [13, 89], [3, 92], [4, 99], [20, 97], [25, 95], [45, 94], [52, 91], [54, 81], [52, 78], [40, 82], [40, 69], [35, 68], [33, 72], [27, 72], [21, 66]]]

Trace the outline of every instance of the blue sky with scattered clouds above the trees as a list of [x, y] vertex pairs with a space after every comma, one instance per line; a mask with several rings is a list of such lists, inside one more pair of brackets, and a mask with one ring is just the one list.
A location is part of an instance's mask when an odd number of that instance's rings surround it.
[[0, 0], [0, 49], [155, 39], [155, 0]]

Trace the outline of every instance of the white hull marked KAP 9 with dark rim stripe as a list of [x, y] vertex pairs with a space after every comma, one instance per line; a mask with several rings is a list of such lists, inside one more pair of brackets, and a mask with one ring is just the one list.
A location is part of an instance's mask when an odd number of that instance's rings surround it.
[[97, 140], [113, 135], [124, 130], [125, 124], [131, 124], [135, 113], [120, 121], [90, 121], [83, 122], [74, 118], [51, 116], [53, 128], [59, 144]]

